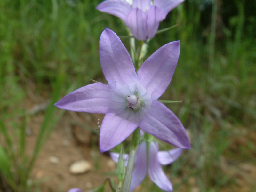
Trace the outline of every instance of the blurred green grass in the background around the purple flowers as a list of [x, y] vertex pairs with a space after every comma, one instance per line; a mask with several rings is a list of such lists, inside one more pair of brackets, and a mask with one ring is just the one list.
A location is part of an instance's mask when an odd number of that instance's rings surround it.
[[[49, 93], [48, 99], [52, 98], [42, 125], [45, 136], [36, 154], [52, 131], [46, 127], [52, 123], [52, 104], [57, 97], [91, 83], [90, 79], [102, 79], [98, 45], [101, 32], [108, 27], [120, 36], [126, 35], [118, 18], [95, 9], [100, 2], [0, 1], [2, 127], [23, 126], [24, 119], [20, 118], [26, 115], [23, 101], [28, 98], [28, 82], [36, 84], [35, 94], [44, 91]], [[188, 190], [196, 186], [199, 191], [220, 191], [237, 186], [232, 174], [223, 171], [223, 161], [232, 165], [255, 163], [252, 151], [256, 143], [247, 139], [246, 144], [237, 146], [237, 140], [247, 138], [256, 127], [256, 17], [248, 15], [256, 3], [252, 1], [248, 6], [243, 0], [230, 0], [228, 5], [222, 2], [217, 5], [216, 26], [211, 30], [212, 5], [202, 2], [186, 1], [174, 9], [159, 29], [179, 26], [156, 35], [149, 43], [148, 55], [180, 39], [179, 63], [161, 99], [183, 100], [181, 104], [166, 105], [189, 130], [192, 143], [192, 149], [171, 167], [172, 178], [182, 178], [182, 184], [174, 185], [174, 189], [182, 190], [185, 185]], [[229, 15], [221, 14], [228, 9]], [[128, 49], [129, 39], [122, 41]], [[247, 133], [243, 135], [244, 130]], [[4, 145], [2, 138], [0, 141]], [[21, 134], [21, 151], [25, 150], [24, 142]], [[3, 162], [10, 166], [6, 153], [1, 148]], [[3, 174], [10, 176], [8, 171]], [[191, 178], [195, 182], [190, 182]]]

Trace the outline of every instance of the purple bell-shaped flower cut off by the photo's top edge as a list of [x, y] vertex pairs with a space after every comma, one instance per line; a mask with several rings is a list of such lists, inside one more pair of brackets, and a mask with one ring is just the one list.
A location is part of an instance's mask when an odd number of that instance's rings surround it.
[[133, 0], [132, 6], [125, 0], [107, 0], [96, 9], [124, 20], [132, 35], [139, 40], [155, 36], [159, 23], [184, 0]]

